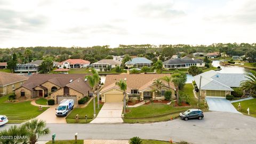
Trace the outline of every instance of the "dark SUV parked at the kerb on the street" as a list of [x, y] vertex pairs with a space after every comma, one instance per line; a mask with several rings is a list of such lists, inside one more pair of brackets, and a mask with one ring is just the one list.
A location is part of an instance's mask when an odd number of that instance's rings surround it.
[[184, 113], [180, 113], [180, 118], [188, 121], [191, 118], [198, 118], [199, 120], [203, 119], [204, 113], [201, 109], [188, 109]]

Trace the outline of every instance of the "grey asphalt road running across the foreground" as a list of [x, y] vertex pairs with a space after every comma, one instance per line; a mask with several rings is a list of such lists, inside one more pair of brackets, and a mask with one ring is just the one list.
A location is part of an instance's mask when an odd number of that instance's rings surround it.
[[[11, 124], [0, 127], [7, 129]], [[57, 139], [185, 140], [192, 143], [256, 143], [256, 118], [226, 112], [207, 112], [201, 121], [175, 119], [150, 124], [47, 124]], [[39, 140], [51, 140], [51, 135]]]

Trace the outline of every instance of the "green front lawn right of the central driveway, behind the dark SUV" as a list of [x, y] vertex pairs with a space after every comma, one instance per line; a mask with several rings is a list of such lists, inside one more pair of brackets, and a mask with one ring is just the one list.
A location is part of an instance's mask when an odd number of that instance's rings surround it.
[[[189, 95], [191, 107], [173, 107], [173, 105], [165, 105], [163, 103], [150, 103], [149, 105], [142, 105], [136, 108], [127, 108], [130, 110], [124, 116], [125, 123], [149, 123], [169, 121], [170, 118], [179, 116], [179, 113], [189, 108], [197, 108], [198, 99], [194, 97], [193, 85], [186, 84], [182, 90], [185, 94]], [[200, 102], [201, 109], [204, 108], [204, 101]]]

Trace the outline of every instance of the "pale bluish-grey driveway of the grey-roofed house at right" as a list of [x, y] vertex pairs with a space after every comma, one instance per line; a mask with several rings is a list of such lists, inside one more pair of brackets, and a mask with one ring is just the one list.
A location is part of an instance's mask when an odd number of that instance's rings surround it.
[[225, 111], [230, 113], [239, 113], [229, 100], [224, 98], [205, 98], [211, 111]]

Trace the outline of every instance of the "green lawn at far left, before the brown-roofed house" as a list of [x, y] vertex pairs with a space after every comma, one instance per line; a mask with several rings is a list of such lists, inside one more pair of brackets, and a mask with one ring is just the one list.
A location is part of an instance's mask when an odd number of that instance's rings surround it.
[[28, 121], [31, 118], [35, 118], [39, 114], [43, 113], [47, 108], [43, 107], [42, 111], [38, 110], [38, 107], [30, 104], [30, 101], [24, 102], [6, 102], [7, 95], [0, 97], [0, 114], [6, 115], [9, 119], [9, 123], [22, 123]]

